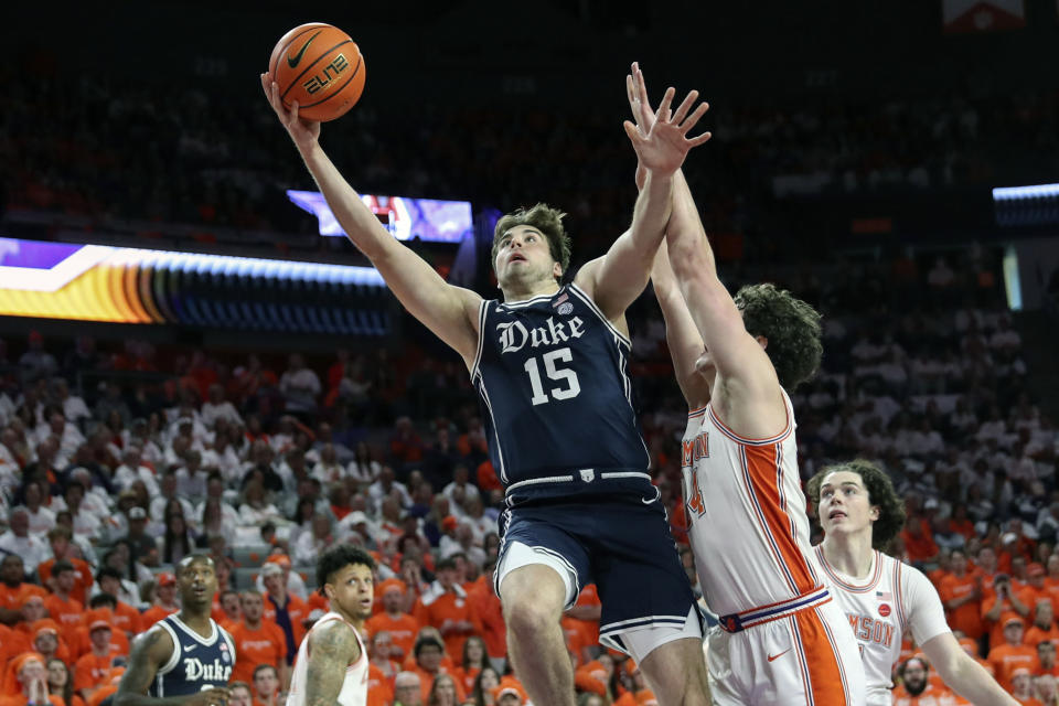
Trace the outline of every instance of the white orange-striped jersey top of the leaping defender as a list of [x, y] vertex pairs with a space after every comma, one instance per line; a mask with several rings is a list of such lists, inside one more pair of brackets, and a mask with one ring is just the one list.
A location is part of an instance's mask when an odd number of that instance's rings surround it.
[[688, 414], [681, 467], [703, 593], [718, 614], [787, 601], [824, 585], [809, 543], [794, 410], [787, 427], [746, 439], [710, 405]]

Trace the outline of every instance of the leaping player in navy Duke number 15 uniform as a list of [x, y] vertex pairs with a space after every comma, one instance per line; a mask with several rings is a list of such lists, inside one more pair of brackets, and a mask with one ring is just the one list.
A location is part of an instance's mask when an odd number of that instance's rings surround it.
[[702, 627], [648, 474], [624, 319], [662, 243], [673, 175], [709, 138], [687, 137], [706, 104], [693, 111], [692, 92], [672, 110], [670, 88], [650, 131], [625, 122], [646, 183], [629, 231], [571, 282], [560, 281], [570, 259], [561, 212], [538, 204], [501, 218], [493, 267], [503, 299], [484, 301], [394, 239], [324, 154], [320, 124], [286, 109], [270, 75], [261, 87], [349, 238], [471, 373], [506, 491], [495, 585], [532, 700], [573, 706], [559, 618], [595, 581], [601, 641], [632, 655], [661, 704], [707, 703]]

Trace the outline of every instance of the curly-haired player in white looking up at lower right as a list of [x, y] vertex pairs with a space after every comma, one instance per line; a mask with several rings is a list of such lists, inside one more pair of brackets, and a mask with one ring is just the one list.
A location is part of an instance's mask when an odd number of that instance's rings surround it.
[[958, 694], [977, 706], [1015, 706], [1017, 702], [956, 642], [927, 577], [882, 554], [905, 526], [905, 503], [889, 477], [858, 459], [821, 470], [806, 491], [824, 530], [817, 557], [860, 643], [868, 706], [891, 703], [890, 671], [906, 631]]

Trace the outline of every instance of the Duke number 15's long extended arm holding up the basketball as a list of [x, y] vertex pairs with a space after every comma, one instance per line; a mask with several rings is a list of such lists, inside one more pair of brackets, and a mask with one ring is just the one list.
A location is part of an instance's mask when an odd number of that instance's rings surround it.
[[472, 360], [478, 345], [481, 297], [449, 285], [422, 258], [398, 243], [320, 147], [320, 124], [300, 119], [297, 104], [287, 110], [269, 74], [261, 74], [261, 88], [353, 245], [372, 260], [389, 289], [416, 319], [464, 360]]

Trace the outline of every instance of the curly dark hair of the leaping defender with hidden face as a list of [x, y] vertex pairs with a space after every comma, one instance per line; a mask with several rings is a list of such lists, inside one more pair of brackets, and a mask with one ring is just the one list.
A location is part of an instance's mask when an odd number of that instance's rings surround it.
[[824, 346], [815, 309], [769, 284], [740, 288], [735, 301], [747, 332], [768, 339], [764, 352], [783, 389], [792, 393], [816, 374]]

